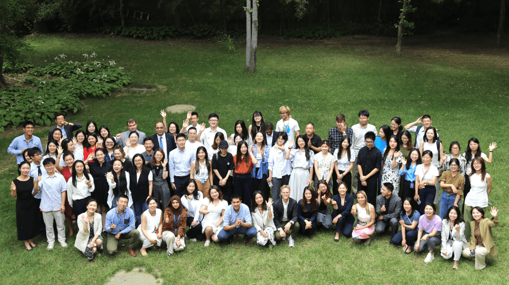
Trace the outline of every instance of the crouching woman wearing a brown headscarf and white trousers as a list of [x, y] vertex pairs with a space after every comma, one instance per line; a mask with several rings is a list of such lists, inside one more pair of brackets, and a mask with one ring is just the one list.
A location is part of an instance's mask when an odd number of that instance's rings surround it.
[[171, 257], [174, 251], [180, 251], [186, 247], [184, 243], [186, 226], [187, 210], [182, 206], [180, 197], [174, 195], [164, 209], [162, 222], [162, 239], [166, 243], [168, 257]]

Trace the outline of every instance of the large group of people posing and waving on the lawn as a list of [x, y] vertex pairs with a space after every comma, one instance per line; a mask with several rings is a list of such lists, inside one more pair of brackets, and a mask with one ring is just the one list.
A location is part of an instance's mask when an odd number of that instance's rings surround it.
[[498, 210], [488, 208], [486, 170], [497, 145], [486, 155], [473, 137], [463, 154], [458, 141], [446, 153], [429, 115], [405, 126], [394, 117], [377, 129], [367, 110], [351, 128], [339, 114], [327, 139], [310, 122], [300, 134], [288, 106], [279, 108], [275, 130], [254, 111], [251, 124], [236, 121], [230, 136], [215, 113], [208, 128], [196, 112], [187, 113], [182, 128], [160, 115], [154, 135], [129, 119], [128, 130], [113, 136], [107, 126], [89, 121], [81, 130], [56, 113], [46, 148], [33, 135], [34, 123], [23, 124], [24, 134], [8, 152], [18, 165], [11, 195], [18, 240], [27, 251], [37, 247], [38, 235], [52, 249], [54, 229], [67, 247], [67, 223], [89, 260], [100, 254], [104, 238], [109, 254], [128, 239], [132, 256], [141, 241], [142, 255], [164, 242], [169, 257], [186, 242], [207, 247], [237, 235], [245, 244], [256, 238], [260, 246], [285, 240], [294, 247], [297, 235], [329, 228], [334, 241], [343, 235], [363, 245], [375, 232], [390, 234], [390, 244], [407, 254], [428, 250], [425, 263], [440, 246], [453, 269], [461, 256], [484, 269], [497, 253], [491, 227], [499, 223]]

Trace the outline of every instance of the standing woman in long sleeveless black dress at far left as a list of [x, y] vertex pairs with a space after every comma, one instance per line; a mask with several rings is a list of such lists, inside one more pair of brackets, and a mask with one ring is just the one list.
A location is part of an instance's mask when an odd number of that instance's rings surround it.
[[16, 198], [16, 227], [18, 230], [18, 240], [25, 243], [25, 249], [31, 251], [37, 245], [34, 243], [34, 237], [39, 232], [39, 201], [34, 195], [40, 190], [39, 181], [28, 176], [30, 172], [30, 163], [23, 161], [18, 168], [21, 173], [11, 183], [11, 196]]

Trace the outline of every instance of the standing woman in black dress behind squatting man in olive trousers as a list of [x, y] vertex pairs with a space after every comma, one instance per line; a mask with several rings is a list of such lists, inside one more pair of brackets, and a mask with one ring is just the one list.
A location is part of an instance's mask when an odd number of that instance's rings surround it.
[[[113, 167], [107, 163], [104, 159], [104, 151], [101, 148], [97, 148], [94, 154], [90, 154], [84, 163], [87, 165], [87, 170], [94, 178], [95, 190], [92, 192], [92, 198], [97, 201], [97, 213], [102, 216], [103, 231], [106, 222], [106, 212], [109, 209], [108, 206], [108, 192], [109, 185], [106, 180], [106, 174], [111, 172]], [[93, 158], [93, 159], [92, 159]]]

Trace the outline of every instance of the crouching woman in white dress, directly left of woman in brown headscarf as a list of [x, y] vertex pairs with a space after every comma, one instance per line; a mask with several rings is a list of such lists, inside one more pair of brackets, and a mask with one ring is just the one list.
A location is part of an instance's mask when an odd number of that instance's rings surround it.
[[162, 242], [162, 211], [157, 208], [154, 197], [147, 200], [149, 209], [142, 214], [142, 223], [138, 225], [139, 240], [142, 241], [142, 255], [147, 256], [147, 248]]

